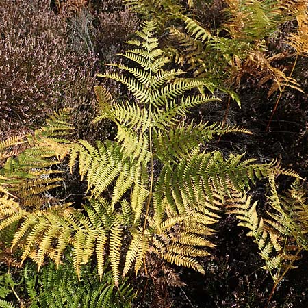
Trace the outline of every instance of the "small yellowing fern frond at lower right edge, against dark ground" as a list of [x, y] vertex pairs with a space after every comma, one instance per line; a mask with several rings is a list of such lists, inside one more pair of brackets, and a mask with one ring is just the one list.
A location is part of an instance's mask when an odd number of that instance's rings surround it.
[[[292, 198], [279, 196], [274, 177], [269, 174], [271, 196], [268, 197], [268, 218], [263, 218], [257, 213], [257, 202], [251, 205], [251, 197], [246, 201], [243, 199], [231, 203], [227, 205], [227, 209], [240, 220], [238, 225], [250, 230], [247, 235], [255, 238], [259, 254], [265, 261], [263, 268], [270, 272], [274, 281], [281, 281], [285, 273], [294, 268], [293, 263], [298, 259], [300, 251], [307, 249], [307, 245], [304, 244], [307, 243], [307, 238], [303, 238], [305, 227], [298, 225], [300, 220], [294, 220], [296, 209], [294, 211], [288, 206]], [[299, 195], [303, 196], [301, 193]], [[305, 204], [300, 203], [300, 208], [305, 208]]]

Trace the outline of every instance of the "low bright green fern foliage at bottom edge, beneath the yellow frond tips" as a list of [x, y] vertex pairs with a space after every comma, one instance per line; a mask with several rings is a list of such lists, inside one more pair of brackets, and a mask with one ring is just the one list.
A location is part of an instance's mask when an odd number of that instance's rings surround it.
[[[94, 272], [94, 273], [93, 273]], [[96, 269], [86, 266], [78, 280], [72, 265], [55, 269], [44, 266], [34, 277], [25, 268], [25, 281], [29, 295], [29, 308], [129, 308], [134, 294], [126, 281], [115, 287], [112, 272], [107, 271], [100, 280]]]

